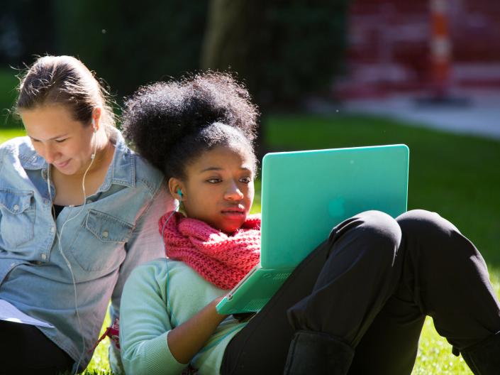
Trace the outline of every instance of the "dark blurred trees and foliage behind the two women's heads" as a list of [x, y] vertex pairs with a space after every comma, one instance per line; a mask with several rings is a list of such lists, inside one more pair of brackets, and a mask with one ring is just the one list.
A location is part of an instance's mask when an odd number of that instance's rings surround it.
[[117, 93], [211, 68], [237, 72], [262, 111], [329, 91], [348, 0], [3, 0], [0, 62], [74, 55]]

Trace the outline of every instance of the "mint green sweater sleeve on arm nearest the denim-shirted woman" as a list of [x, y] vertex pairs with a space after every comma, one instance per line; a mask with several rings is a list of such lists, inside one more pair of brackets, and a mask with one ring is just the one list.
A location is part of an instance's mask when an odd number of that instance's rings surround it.
[[126, 374], [179, 374], [185, 364], [167, 345], [172, 330], [167, 313], [165, 280], [158, 261], [135, 268], [121, 298], [120, 344]]

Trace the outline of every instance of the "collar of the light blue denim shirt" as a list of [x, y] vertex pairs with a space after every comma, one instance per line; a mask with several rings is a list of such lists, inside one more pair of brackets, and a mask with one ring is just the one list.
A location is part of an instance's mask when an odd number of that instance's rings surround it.
[[[132, 151], [126, 146], [125, 140], [118, 130], [111, 128], [109, 133], [109, 138], [115, 146], [115, 152], [113, 161], [111, 161], [111, 166], [108, 168], [106, 178], [101, 188], [99, 188], [99, 192], [109, 190], [113, 184], [134, 188], [135, 162]], [[41, 169], [43, 177], [47, 178], [48, 164], [45, 162], [45, 159], [39, 156], [33, 148], [30, 151], [19, 155], [21, 165], [26, 170]]]

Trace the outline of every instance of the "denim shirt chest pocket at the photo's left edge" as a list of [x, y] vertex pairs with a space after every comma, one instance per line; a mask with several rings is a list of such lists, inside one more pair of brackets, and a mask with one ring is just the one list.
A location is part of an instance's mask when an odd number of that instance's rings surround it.
[[35, 212], [33, 191], [0, 188], [0, 244], [6, 250], [33, 239]]

